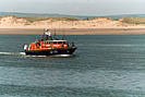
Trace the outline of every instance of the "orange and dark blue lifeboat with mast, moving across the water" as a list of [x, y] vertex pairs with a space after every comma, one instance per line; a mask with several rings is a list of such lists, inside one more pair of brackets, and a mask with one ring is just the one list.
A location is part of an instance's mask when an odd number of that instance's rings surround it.
[[40, 39], [24, 46], [25, 53], [32, 56], [73, 54], [75, 50], [74, 43], [70, 44], [68, 40], [57, 39], [49, 29], [45, 31]]

